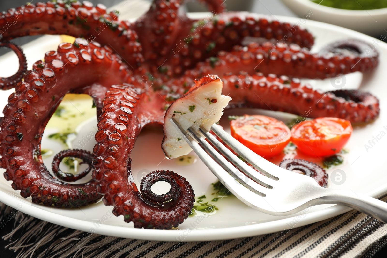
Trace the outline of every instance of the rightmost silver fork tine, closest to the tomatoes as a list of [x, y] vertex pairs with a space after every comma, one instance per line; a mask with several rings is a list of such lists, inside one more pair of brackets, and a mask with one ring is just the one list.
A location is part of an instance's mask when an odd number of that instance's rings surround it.
[[211, 126], [212, 132], [214, 132], [223, 142], [225, 142], [228, 146], [231, 147], [236, 153], [238, 153], [243, 159], [245, 159], [248, 163], [250, 163], [253, 167], [264, 173], [269, 178], [274, 180], [279, 180], [279, 174], [269, 173], [267, 171], [273, 171], [271, 169], [273, 164], [270, 161], [262, 158], [260, 155], [256, 154], [252, 150], [248, 149], [245, 145], [238, 142], [234, 137], [226, 133], [219, 125], [213, 124]]

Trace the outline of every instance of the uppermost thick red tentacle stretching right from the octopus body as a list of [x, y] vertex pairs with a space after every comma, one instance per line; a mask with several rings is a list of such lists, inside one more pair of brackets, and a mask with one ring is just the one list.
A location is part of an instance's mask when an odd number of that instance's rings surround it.
[[[162, 5], [165, 5], [164, 1]], [[166, 14], [170, 12], [174, 17], [172, 23], [168, 20], [171, 15], [165, 15], [165, 18], [157, 16], [162, 21], [154, 21], [155, 19], [149, 19], [152, 16], [146, 14], [136, 22], [138, 27], [133, 28], [143, 44], [145, 60], [156, 62], [152, 72], [157, 72], [155, 69], [158, 68], [161, 75], [164, 73], [169, 77], [178, 76], [193, 68], [197, 62], [216, 56], [218, 51], [231, 51], [235, 45], [244, 44], [248, 38], [263, 37], [266, 40], [295, 43], [306, 48], [310, 48], [314, 42], [313, 36], [305, 29], [289, 23], [271, 21], [262, 15], [248, 12], [212, 12], [203, 20], [187, 22], [185, 15], [181, 19], [174, 16], [178, 7], [175, 6], [173, 10], [174, 12], [166, 10]], [[153, 14], [156, 11], [151, 9], [149, 12]], [[149, 30], [152, 31], [151, 35]], [[163, 66], [160, 68], [161, 65]]]

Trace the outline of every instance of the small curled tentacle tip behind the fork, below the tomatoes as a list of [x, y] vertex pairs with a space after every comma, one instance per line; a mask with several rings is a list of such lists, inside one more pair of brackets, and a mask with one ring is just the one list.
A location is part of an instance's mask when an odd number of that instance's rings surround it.
[[284, 159], [279, 166], [289, 171], [302, 171], [305, 175], [315, 179], [322, 187], [327, 187], [328, 185], [328, 174], [325, 172], [325, 169], [313, 162], [304, 159]]

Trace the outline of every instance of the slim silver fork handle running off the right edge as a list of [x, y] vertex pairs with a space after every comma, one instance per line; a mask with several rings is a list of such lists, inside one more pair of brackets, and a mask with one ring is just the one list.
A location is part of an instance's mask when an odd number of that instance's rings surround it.
[[345, 205], [387, 223], [387, 203], [354, 191], [329, 189], [325, 195], [317, 199], [317, 202], [317, 204]]

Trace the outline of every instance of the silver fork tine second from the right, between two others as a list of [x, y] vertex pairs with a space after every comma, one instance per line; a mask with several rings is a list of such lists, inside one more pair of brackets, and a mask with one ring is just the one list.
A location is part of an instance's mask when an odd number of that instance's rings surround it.
[[[272, 189], [273, 187], [269, 184], [274, 183], [275, 181], [272, 181], [271, 179], [267, 178], [266, 176], [262, 175], [255, 169], [252, 169], [250, 166], [248, 166], [245, 162], [241, 161], [239, 157], [237, 157], [234, 153], [232, 153], [229, 149], [227, 149], [226, 146], [224, 146], [221, 142], [219, 142], [211, 133], [207, 132], [204, 128], [200, 127], [199, 131], [213, 144], [216, 149], [218, 149], [221, 153], [223, 153], [227, 159], [235, 164], [243, 173], [245, 173], [248, 177], [259, 183], [260, 185], [263, 185], [269, 189]], [[265, 183], [264, 181], [270, 180], [272, 182]]]

